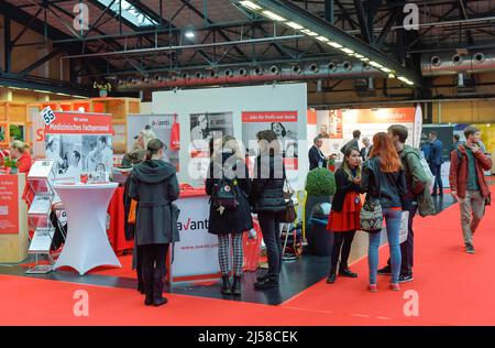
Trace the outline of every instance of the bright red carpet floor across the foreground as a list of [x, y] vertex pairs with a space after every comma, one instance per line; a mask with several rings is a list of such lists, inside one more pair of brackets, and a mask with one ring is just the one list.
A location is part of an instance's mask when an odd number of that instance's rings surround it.
[[[0, 325], [495, 325], [495, 207], [475, 235], [474, 255], [463, 251], [458, 205], [415, 225], [415, 281], [400, 292], [387, 289], [387, 276], [367, 292], [366, 259], [352, 267], [359, 279], [321, 281], [279, 306], [173, 294], [154, 308], [134, 290], [0, 275]], [[383, 248], [381, 265], [387, 255]], [[77, 290], [88, 292], [89, 317], [73, 314]], [[404, 314], [408, 290], [418, 294], [417, 317]]]

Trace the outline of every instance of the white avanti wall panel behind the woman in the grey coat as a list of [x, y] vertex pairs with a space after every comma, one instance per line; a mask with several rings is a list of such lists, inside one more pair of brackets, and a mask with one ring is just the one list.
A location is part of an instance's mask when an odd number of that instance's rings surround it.
[[164, 161], [172, 163], [179, 171], [179, 151], [170, 149], [172, 126], [176, 122], [177, 115], [129, 115], [127, 151], [140, 145], [140, 131], [147, 129], [153, 131], [157, 139], [165, 144]]

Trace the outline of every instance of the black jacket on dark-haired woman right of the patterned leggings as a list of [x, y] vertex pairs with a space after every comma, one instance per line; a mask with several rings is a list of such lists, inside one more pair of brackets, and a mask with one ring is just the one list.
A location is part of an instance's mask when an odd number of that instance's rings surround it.
[[250, 202], [255, 213], [278, 213], [285, 209], [285, 165], [282, 155], [257, 156]]

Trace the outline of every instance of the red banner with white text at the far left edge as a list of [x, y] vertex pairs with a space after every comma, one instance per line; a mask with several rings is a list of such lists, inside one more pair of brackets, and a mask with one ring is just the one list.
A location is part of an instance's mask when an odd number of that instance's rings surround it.
[[0, 235], [19, 233], [18, 175], [0, 175]]

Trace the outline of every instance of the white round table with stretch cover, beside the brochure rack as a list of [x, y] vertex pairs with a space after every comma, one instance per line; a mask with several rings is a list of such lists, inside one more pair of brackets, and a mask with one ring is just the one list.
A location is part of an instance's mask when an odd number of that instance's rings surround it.
[[99, 265], [121, 268], [107, 237], [107, 209], [117, 183], [56, 184], [67, 213], [67, 238], [54, 269], [70, 267], [80, 275]]

